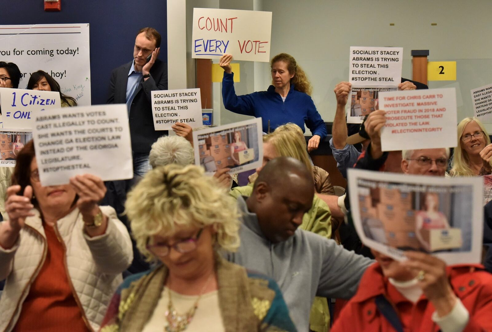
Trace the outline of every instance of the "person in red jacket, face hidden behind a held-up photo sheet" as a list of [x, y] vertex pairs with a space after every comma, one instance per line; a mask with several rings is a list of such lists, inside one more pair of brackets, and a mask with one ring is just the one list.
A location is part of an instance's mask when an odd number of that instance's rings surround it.
[[483, 266], [446, 266], [420, 252], [406, 252], [405, 262], [372, 253], [377, 263], [332, 332], [492, 331], [492, 274]]

